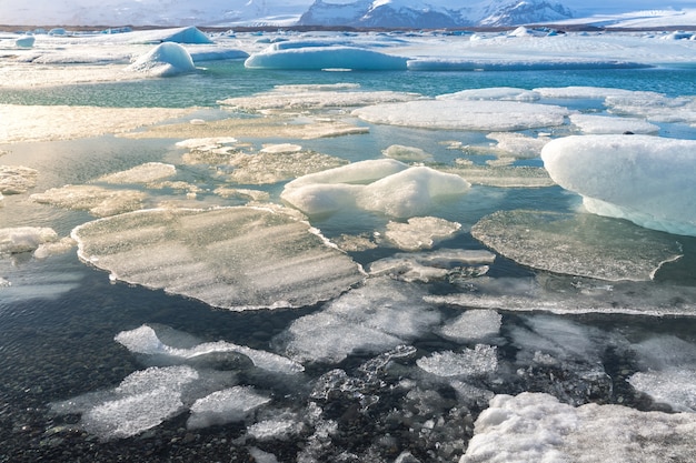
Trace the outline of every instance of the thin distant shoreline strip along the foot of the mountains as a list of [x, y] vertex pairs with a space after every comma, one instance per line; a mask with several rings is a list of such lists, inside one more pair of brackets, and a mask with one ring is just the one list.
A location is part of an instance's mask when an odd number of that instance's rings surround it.
[[[66, 29], [76, 32], [90, 32], [102, 31], [108, 29], [123, 29], [130, 28], [133, 31], [153, 30], [153, 29], [175, 29], [191, 27], [192, 24], [185, 26], [64, 26], [64, 24], [0, 24], [0, 31], [3, 32], [18, 32], [18, 31], [33, 31], [37, 29], [44, 29], [47, 31], [51, 29]], [[529, 29], [548, 28], [558, 31], [567, 32], [646, 32], [646, 31], [677, 31], [677, 30], [696, 30], [696, 26], [664, 26], [655, 28], [613, 28], [613, 27], [598, 27], [593, 24], [519, 24], [519, 26], [500, 26], [500, 27], [461, 27], [461, 28], [354, 28], [341, 26], [196, 26], [198, 29], [205, 32], [225, 32], [233, 30], [237, 32], [311, 32], [311, 31], [334, 31], [334, 32], [416, 32], [416, 31], [441, 31], [441, 32], [498, 32], [515, 30], [516, 28], [524, 26]]]

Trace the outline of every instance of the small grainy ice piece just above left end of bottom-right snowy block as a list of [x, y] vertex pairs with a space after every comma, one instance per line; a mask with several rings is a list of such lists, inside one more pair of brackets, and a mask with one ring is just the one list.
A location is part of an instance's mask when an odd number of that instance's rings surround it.
[[437, 376], [483, 376], [498, 369], [498, 356], [495, 346], [477, 344], [475, 349], [465, 348], [461, 352], [435, 352], [418, 359], [416, 364]]

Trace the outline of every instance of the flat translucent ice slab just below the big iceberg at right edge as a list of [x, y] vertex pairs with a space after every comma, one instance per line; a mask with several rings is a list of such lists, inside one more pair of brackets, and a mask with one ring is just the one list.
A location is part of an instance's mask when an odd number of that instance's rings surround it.
[[610, 281], [650, 280], [682, 255], [668, 235], [586, 213], [499, 211], [471, 234], [523, 265]]

